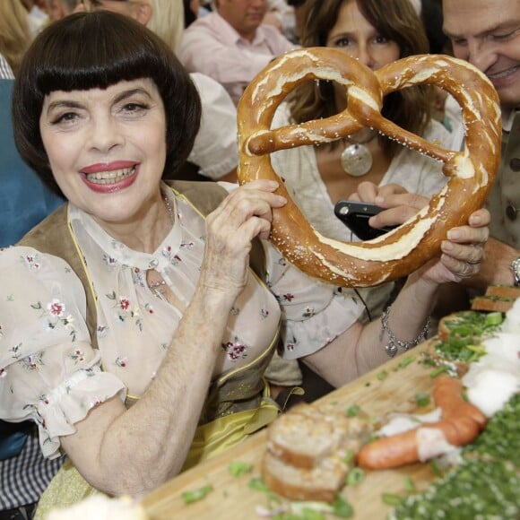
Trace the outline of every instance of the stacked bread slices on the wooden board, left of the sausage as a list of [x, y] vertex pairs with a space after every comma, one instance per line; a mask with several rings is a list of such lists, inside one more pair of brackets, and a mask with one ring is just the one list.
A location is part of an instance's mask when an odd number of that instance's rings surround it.
[[264, 481], [286, 498], [330, 502], [373, 429], [362, 412], [347, 417], [334, 408], [300, 403], [267, 429]]

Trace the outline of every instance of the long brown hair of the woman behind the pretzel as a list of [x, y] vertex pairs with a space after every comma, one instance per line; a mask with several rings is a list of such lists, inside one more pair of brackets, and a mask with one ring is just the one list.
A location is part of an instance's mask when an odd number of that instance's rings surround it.
[[[307, 0], [304, 47], [325, 47], [330, 31], [345, 2], [356, 2], [360, 13], [376, 30], [399, 47], [400, 58], [429, 52], [424, 26], [408, 0]], [[337, 114], [332, 82], [307, 82], [290, 96], [290, 113], [296, 123]], [[431, 118], [431, 88], [420, 85], [393, 92], [385, 97], [382, 114], [395, 124], [421, 134]], [[386, 152], [400, 145], [379, 136]], [[332, 146], [339, 142], [331, 143]]]

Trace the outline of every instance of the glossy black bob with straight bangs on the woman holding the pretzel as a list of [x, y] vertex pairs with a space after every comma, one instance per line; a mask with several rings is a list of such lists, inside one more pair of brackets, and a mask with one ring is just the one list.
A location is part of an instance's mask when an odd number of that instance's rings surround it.
[[177, 57], [151, 30], [118, 13], [74, 13], [39, 33], [13, 87], [13, 133], [22, 159], [60, 193], [39, 132], [45, 97], [52, 91], [107, 89], [150, 78], [164, 103], [166, 162], [175, 172], [191, 152], [201, 117], [195, 84]]

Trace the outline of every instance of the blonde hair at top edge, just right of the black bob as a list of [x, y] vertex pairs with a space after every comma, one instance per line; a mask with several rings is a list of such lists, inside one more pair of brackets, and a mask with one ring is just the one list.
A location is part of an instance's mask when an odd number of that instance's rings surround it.
[[184, 4], [182, 0], [147, 0], [152, 5], [152, 17], [146, 24], [173, 50], [177, 51], [184, 30]]

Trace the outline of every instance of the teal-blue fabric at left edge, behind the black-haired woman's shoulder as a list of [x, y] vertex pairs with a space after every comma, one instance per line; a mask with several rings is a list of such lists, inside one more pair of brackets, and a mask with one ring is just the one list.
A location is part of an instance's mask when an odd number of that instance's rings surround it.
[[13, 140], [13, 80], [0, 80], [0, 247], [11, 246], [60, 205], [21, 159]]

